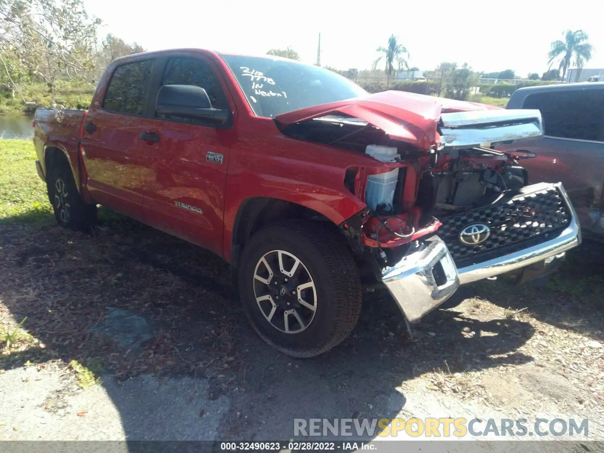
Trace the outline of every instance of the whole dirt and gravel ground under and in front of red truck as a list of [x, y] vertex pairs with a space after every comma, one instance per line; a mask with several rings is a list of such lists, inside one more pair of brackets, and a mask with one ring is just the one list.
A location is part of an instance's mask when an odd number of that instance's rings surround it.
[[598, 247], [545, 287], [464, 287], [413, 339], [392, 301], [368, 294], [349, 339], [300, 360], [248, 327], [208, 252], [121, 217], [96, 237], [0, 225], [0, 324], [27, 316], [0, 356], [0, 439], [275, 440], [294, 418], [416, 416], [587, 417], [588, 440], [603, 440]]

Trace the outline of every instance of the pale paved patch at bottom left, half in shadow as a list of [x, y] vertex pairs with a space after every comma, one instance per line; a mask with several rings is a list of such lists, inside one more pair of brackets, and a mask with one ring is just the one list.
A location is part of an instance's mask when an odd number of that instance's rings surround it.
[[208, 379], [111, 376], [87, 390], [56, 362], [2, 376], [2, 440], [214, 440], [230, 399]]

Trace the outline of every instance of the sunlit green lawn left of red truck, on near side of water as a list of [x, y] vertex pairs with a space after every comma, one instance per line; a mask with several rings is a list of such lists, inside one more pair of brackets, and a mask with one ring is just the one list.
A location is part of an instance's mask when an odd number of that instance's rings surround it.
[[46, 184], [36, 172], [30, 140], [0, 140], [0, 223], [52, 219]]

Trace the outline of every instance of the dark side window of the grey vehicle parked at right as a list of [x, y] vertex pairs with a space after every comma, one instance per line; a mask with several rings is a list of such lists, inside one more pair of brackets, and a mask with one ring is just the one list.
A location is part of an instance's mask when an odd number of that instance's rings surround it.
[[541, 111], [545, 135], [577, 140], [603, 140], [604, 90], [530, 94], [522, 107]]

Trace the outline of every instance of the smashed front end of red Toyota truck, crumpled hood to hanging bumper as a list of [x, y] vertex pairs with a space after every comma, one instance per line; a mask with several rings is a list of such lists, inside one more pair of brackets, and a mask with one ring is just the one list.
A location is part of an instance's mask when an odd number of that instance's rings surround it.
[[[401, 95], [387, 107], [386, 95], [369, 98], [342, 101], [335, 111], [315, 108], [320, 117], [292, 112], [281, 118], [289, 121], [281, 130], [361, 153], [396, 149], [389, 161], [371, 158], [347, 169], [344, 186], [368, 206], [340, 228], [365, 283], [374, 278], [384, 285], [406, 320], [419, 321], [460, 284], [539, 267], [580, 243], [562, 185], [528, 185], [519, 163], [533, 155], [494, 149], [541, 137], [539, 111], [475, 110], [411, 95], [422, 112], [418, 119], [417, 112], [405, 111]], [[385, 175], [396, 175], [396, 181]], [[391, 190], [371, 205], [368, 181], [376, 176]]]

